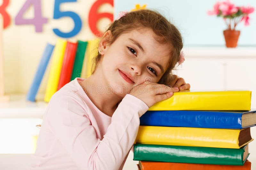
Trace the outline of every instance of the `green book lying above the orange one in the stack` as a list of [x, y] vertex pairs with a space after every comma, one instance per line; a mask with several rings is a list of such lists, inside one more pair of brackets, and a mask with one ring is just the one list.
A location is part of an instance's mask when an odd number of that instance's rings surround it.
[[134, 144], [133, 160], [216, 165], [244, 165], [248, 145], [240, 149]]

